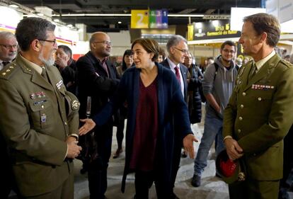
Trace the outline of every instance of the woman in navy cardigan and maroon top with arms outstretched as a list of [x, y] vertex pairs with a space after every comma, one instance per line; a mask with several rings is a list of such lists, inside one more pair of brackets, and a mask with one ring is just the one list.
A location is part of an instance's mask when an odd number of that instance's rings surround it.
[[[183, 146], [194, 157], [193, 142], [197, 140], [190, 129], [188, 108], [180, 85], [170, 69], [155, 63], [159, 45], [155, 40], [139, 38], [132, 44], [135, 67], [122, 76], [116, 95], [93, 119], [79, 130], [86, 134], [95, 125], [102, 125], [125, 101], [128, 104], [125, 145], [125, 170], [135, 173], [135, 198], [149, 198], [149, 188], [155, 182], [156, 195], [174, 198], [171, 170], [174, 137], [181, 137]], [[180, 133], [180, 135], [175, 135]]]

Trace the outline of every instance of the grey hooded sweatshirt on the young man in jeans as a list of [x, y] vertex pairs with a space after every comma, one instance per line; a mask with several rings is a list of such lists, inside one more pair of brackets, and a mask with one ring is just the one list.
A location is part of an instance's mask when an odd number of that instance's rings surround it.
[[221, 56], [217, 57], [215, 63], [218, 64], [217, 75], [214, 79], [216, 67], [214, 64], [210, 64], [205, 70], [204, 79], [202, 81], [202, 91], [204, 94], [212, 93], [217, 103], [221, 107], [221, 112], [217, 113], [212, 106], [207, 102], [206, 111], [209, 115], [214, 115], [219, 118], [223, 118], [224, 108], [229, 102], [229, 98], [232, 94], [235, 80], [237, 76], [237, 70], [234, 62], [231, 62], [231, 68], [228, 70], [220, 61]]

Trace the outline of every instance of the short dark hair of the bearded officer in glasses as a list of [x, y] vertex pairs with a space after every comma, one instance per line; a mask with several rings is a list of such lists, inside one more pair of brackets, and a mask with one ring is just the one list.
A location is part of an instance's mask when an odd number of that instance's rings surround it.
[[46, 40], [47, 31], [55, 30], [55, 25], [43, 18], [23, 18], [16, 27], [16, 40], [21, 50], [27, 51], [33, 40]]

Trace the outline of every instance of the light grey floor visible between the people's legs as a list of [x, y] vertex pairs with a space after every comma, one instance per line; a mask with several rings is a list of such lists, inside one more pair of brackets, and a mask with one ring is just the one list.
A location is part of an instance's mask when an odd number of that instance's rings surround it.
[[[203, 123], [198, 125], [193, 125], [193, 132], [197, 137], [197, 140], [200, 140], [203, 132]], [[195, 144], [195, 150], [199, 146], [199, 142]], [[117, 149], [115, 130], [113, 135], [113, 147], [112, 152], [114, 153]], [[228, 186], [224, 183], [220, 178], [215, 176], [215, 166], [214, 166], [214, 149], [211, 149], [209, 152], [209, 160], [207, 164], [207, 168], [202, 174], [202, 186], [199, 188], [195, 188], [191, 186], [190, 181], [193, 177], [193, 159], [182, 158], [180, 162], [180, 169], [178, 171], [176, 185], [175, 185], [175, 193], [179, 198], [196, 198], [197, 199], [228, 199]], [[122, 171], [124, 168], [125, 154], [124, 152], [117, 159], [110, 159], [110, 164], [108, 168], [108, 190], [105, 193], [107, 198], [110, 199], [126, 199], [133, 198], [134, 196], [134, 176], [127, 176], [127, 184], [125, 193], [121, 193], [121, 179], [122, 179]], [[81, 161], [74, 161], [75, 168], [75, 191], [74, 198], [75, 199], [87, 199], [88, 195], [88, 181], [86, 174], [81, 175], [79, 173], [81, 169]], [[150, 189], [150, 198], [156, 198], [156, 191], [154, 186]]]

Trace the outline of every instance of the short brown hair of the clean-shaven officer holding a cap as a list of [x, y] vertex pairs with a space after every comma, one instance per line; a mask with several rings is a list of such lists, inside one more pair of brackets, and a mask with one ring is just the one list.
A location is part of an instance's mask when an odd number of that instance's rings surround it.
[[280, 40], [280, 23], [275, 16], [267, 13], [257, 13], [243, 18], [243, 22], [251, 22], [258, 35], [267, 33], [267, 44], [275, 47]]

